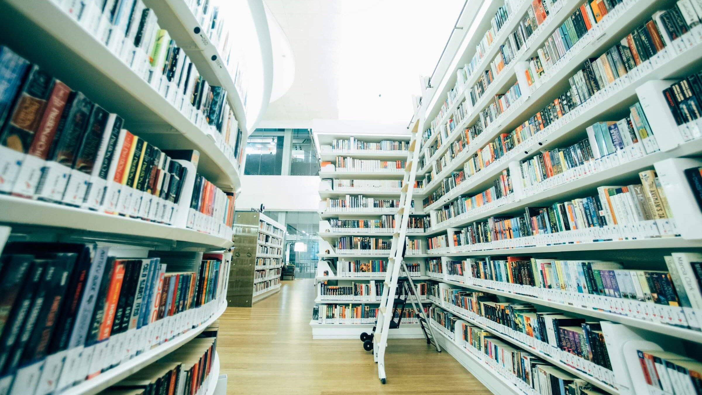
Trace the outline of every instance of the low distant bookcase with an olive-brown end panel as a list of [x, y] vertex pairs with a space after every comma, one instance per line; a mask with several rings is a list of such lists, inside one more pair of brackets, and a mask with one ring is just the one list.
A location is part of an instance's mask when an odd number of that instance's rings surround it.
[[230, 306], [251, 307], [280, 290], [286, 229], [263, 213], [237, 211]]

